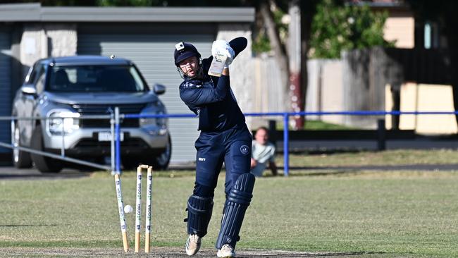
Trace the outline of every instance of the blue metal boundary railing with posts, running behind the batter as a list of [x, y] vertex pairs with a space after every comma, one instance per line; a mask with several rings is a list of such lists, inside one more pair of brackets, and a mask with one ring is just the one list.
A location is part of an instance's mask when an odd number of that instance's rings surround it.
[[[400, 116], [400, 115], [458, 115], [458, 111], [323, 111], [323, 112], [270, 112], [270, 113], [245, 113], [245, 116], [281, 116], [283, 117], [283, 171], [284, 176], [290, 174], [289, 160], [289, 121], [290, 116]], [[115, 114], [115, 152], [116, 171], [120, 171], [120, 125], [122, 118], [195, 118], [194, 114]]]

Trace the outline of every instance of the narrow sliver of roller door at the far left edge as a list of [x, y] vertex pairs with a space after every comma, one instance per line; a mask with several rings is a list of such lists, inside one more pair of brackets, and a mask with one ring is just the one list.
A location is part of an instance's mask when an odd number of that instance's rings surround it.
[[[11, 57], [10, 36], [0, 32], [0, 116], [11, 116]], [[11, 142], [11, 123], [0, 121], [0, 142]], [[0, 148], [0, 152], [10, 152]]]

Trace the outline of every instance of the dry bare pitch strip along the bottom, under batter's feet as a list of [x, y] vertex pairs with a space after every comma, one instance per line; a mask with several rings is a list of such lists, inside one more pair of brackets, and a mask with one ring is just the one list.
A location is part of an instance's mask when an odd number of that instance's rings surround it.
[[[237, 250], [237, 257], [369, 257], [361, 252], [354, 253], [311, 253], [280, 250]], [[153, 247], [148, 254], [143, 250], [135, 254], [133, 250], [124, 253], [113, 248], [0, 248], [0, 257], [188, 257], [182, 248]], [[194, 257], [216, 257], [216, 250], [200, 250]]]

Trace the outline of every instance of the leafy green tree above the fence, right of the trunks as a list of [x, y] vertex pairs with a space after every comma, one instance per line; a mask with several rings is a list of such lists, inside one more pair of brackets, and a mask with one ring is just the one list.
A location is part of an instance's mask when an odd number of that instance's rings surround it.
[[340, 52], [373, 46], [392, 47], [383, 39], [388, 13], [373, 13], [369, 6], [343, 5], [323, 0], [311, 24], [310, 56], [337, 59]]

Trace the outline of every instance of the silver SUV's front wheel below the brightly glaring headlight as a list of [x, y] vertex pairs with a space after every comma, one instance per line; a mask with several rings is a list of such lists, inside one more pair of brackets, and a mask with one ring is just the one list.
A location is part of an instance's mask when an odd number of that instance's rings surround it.
[[[44, 152], [42, 126], [37, 125], [32, 133], [32, 149]], [[42, 173], [58, 173], [62, 170], [62, 162], [47, 156], [31, 154], [35, 167]]]

